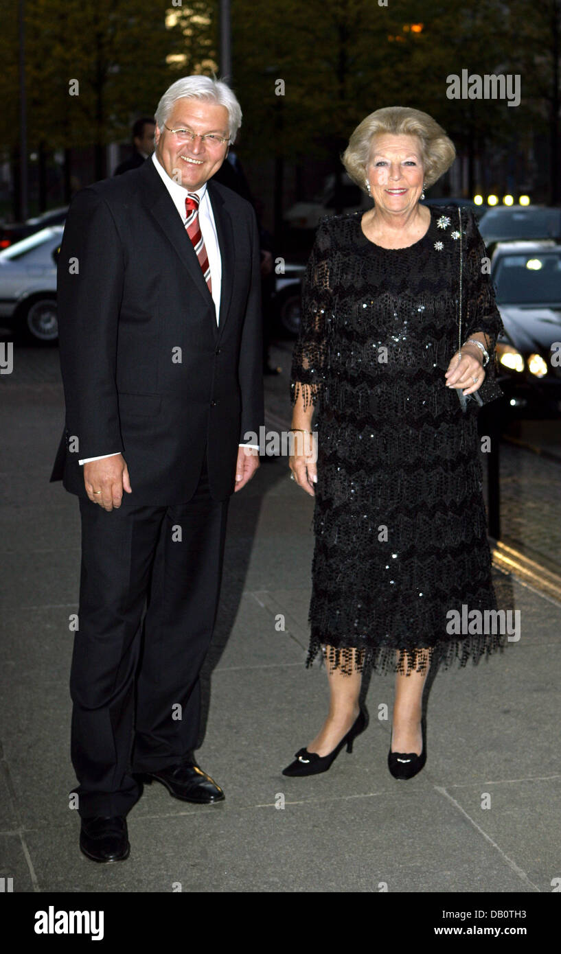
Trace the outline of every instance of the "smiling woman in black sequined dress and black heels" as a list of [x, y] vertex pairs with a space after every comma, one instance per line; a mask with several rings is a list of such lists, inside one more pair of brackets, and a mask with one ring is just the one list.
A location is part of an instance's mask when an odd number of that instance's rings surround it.
[[502, 393], [502, 324], [475, 218], [419, 204], [454, 156], [425, 113], [368, 115], [343, 164], [374, 207], [323, 219], [308, 262], [290, 468], [315, 496], [306, 665], [323, 653], [330, 706], [285, 775], [326, 771], [344, 744], [350, 751], [370, 666], [396, 673], [388, 766], [411, 778], [426, 759], [429, 664], [477, 663], [504, 645], [501, 633], [457, 633], [449, 622], [463, 606], [496, 610], [479, 401], [469, 395], [485, 403]]

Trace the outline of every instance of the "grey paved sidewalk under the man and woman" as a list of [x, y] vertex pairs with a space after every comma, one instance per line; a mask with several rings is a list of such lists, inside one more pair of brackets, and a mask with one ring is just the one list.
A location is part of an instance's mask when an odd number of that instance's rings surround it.
[[[387, 771], [393, 679], [377, 675], [352, 757], [317, 778], [280, 775], [326, 708], [322, 668], [304, 668], [312, 501], [283, 460], [264, 462], [230, 508], [198, 752], [226, 800], [190, 806], [152, 785], [129, 816], [130, 859], [81, 856], [68, 807], [78, 511], [47, 483], [61, 387], [29, 365], [18, 380], [15, 359], [0, 383], [0, 877], [14, 891], [171, 892], [178, 881], [184, 892], [551, 892], [561, 876], [561, 608], [509, 576], [497, 573], [499, 604], [521, 611], [522, 637], [488, 663], [437, 676], [418, 777]], [[35, 359], [51, 366], [52, 356]], [[267, 383], [279, 420], [283, 386]], [[378, 717], [384, 705], [389, 719]]]

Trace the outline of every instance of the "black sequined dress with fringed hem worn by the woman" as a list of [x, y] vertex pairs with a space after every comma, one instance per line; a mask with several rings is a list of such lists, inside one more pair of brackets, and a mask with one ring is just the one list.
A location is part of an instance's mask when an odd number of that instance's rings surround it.
[[477, 405], [465, 414], [445, 384], [458, 350], [460, 247], [462, 342], [488, 335], [484, 401], [502, 393], [502, 323], [472, 213], [460, 225], [455, 207], [430, 212], [426, 235], [403, 249], [366, 239], [362, 213], [323, 219], [308, 262], [291, 383], [293, 402], [302, 393], [316, 405], [318, 425], [306, 665], [322, 645], [343, 672], [422, 671], [417, 651], [428, 648], [444, 668], [465, 666], [504, 645], [476, 622], [450, 632], [448, 614], [496, 609]]

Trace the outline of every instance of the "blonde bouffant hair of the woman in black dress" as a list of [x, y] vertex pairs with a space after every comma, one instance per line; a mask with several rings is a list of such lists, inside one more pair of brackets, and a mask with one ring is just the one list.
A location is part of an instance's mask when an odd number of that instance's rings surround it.
[[363, 119], [351, 135], [343, 156], [343, 166], [353, 182], [364, 192], [366, 167], [377, 135], [416, 135], [421, 143], [421, 156], [426, 186], [434, 185], [450, 168], [456, 150], [442, 126], [432, 116], [408, 106], [384, 106]]

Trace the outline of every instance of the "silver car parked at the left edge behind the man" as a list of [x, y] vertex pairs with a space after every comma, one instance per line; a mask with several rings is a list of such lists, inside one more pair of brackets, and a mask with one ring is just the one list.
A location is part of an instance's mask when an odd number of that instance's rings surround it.
[[56, 257], [63, 233], [52, 225], [0, 252], [0, 323], [31, 342], [55, 342]]

